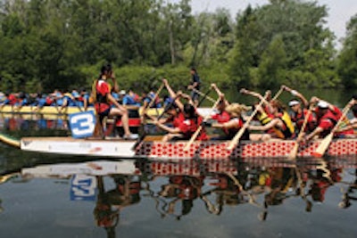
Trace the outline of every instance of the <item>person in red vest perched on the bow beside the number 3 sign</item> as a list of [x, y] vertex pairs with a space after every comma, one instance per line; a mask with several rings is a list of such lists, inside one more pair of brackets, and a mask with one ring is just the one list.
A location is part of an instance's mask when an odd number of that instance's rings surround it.
[[[129, 130], [129, 116], [125, 107], [120, 105], [111, 94], [107, 79], [112, 77], [112, 68], [103, 66], [99, 78], [95, 81], [95, 111], [100, 121], [105, 117], [120, 117], [124, 129], [124, 139], [137, 139]], [[115, 107], [112, 107], [112, 104]], [[116, 121], [114, 122], [114, 125]]]

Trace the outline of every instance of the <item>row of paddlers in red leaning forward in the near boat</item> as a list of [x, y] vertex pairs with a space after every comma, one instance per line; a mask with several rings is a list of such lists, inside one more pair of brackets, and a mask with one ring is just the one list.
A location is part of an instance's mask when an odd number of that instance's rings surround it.
[[[163, 83], [168, 88], [171, 98], [175, 98], [175, 103], [167, 109], [170, 117], [154, 119], [154, 124], [168, 132], [165, 136], [167, 140], [172, 138], [189, 140], [199, 127], [202, 129], [196, 137], [197, 140], [208, 138], [232, 140], [240, 130], [244, 130], [241, 139], [253, 141], [265, 141], [270, 138], [295, 139], [300, 134], [304, 135], [305, 141], [309, 141], [314, 138], [323, 138], [331, 132], [338, 138], [355, 137], [353, 129], [357, 127], [356, 119], [347, 119], [346, 113], [336, 105], [316, 96], [308, 101], [303, 94], [288, 86], [281, 86], [278, 94], [284, 91], [292, 94], [293, 99], [287, 103], [290, 110], [276, 97], [271, 98], [269, 91], [263, 96], [242, 89], [240, 91], [242, 94], [252, 95], [259, 100], [259, 103], [253, 105], [254, 110], [248, 117], [247, 111], [251, 111], [252, 107], [240, 103], [229, 103], [220, 89], [212, 84], [219, 99], [214, 106], [215, 112], [207, 117], [199, 114], [195, 103], [192, 102], [192, 97], [181, 92], [175, 94], [166, 79], [163, 79]], [[182, 99], [186, 99], [187, 103], [181, 103]], [[348, 109], [352, 108], [355, 116], [357, 115], [356, 103], [357, 101], [353, 98], [346, 106]], [[252, 120], [253, 122], [250, 123]], [[171, 122], [173, 127], [168, 127], [168, 122]], [[223, 135], [207, 136], [205, 130], [207, 127], [220, 128]]]

